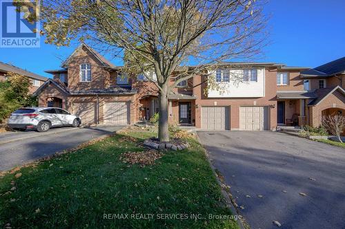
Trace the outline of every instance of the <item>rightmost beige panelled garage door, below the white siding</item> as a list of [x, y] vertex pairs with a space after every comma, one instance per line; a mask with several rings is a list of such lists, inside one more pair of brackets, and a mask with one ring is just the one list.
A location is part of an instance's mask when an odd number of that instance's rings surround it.
[[264, 131], [268, 129], [267, 107], [240, 107], [239, 128], [244, 131]]

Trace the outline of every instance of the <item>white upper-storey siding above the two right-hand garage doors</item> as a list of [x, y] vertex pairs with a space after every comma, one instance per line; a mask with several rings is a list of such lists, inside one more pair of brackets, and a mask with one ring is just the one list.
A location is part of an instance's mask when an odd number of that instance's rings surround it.
[[[257, 82], [241, 82], [243, 70], [230, 70], [230, 82], [209, 89], [208, 98], [258, 98], [265, 96], [265, 69], [257, 68]], [[209, 77], [215, 77], [215, 71]]]

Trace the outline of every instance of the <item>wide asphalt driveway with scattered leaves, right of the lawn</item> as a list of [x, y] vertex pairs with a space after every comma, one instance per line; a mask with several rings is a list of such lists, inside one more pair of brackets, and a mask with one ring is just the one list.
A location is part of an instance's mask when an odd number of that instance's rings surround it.
[[250, 228], [345, 228], [345, 149], [274, 132], [198, 135]]

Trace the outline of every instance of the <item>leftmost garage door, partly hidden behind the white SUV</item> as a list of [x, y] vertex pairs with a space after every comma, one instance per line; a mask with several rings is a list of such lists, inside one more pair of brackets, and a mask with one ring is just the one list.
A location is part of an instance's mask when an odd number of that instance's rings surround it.
[[81, 118], [82, 125], [95, 124], [95, 102], [73, 102], [72, 114]]

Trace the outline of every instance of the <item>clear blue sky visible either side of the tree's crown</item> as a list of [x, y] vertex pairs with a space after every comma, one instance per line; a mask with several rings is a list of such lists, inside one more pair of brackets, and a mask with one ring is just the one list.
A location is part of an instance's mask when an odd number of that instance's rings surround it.
[[[270, 45], [258, 61], [317, 67], [345, 56], [345, 1], [270, 0], [264, 11], [270, 17]], [[50, 76], [44, 70], [59, 69], [75, 47], [41, 42], [39, 48], [0, 48], [0, 61]], [[121, 65], [119, 60], [112, 62]]]

